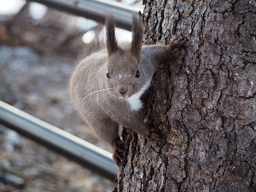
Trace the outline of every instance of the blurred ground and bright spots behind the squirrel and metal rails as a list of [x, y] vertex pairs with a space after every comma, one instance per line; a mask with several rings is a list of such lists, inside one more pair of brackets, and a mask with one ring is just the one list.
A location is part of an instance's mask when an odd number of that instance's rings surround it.
[[[119, 1], [120, 2], [120, 1]], [[140, 7], [141, 1], [121, 1]], [[0, 100], [105, 150], [70, 104], [68, 83], [102, 23], [23, 0], [0, 1]], [[119, 41], [130, 31], [117, 29]], [[14, 187], [3, 172], [21, 178]], [[112, 191], [113, 181], [0, 125], [0, 191]]]

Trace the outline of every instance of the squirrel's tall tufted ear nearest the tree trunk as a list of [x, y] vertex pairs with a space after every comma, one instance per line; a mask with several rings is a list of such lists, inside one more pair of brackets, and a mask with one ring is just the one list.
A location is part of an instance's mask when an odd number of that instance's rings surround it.
[[141, 46], [143, 38], [143, 25], [140, 17], [137, 17], [135, 13], [132, 14], [132, 54], [140, 58]]

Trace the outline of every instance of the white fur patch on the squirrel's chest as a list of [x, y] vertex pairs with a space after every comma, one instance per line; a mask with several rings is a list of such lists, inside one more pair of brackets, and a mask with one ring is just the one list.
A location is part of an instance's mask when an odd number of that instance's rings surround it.
[[140, 100], [141, 95], [148, 89], [151, 79], [141, 88], [141, 90], [133, 94], [130, 98], [127, 98], [127, 101], [130, 104], [132, 110], [138, 111], [142, 107], [142, 102]]

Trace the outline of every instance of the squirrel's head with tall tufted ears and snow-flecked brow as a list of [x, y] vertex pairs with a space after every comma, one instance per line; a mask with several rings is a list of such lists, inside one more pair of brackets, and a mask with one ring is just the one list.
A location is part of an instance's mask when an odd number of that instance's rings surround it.
[[107, 87], [114, 87], [114, 94], [119, 98], [129, 98], [138, 93], [146, 79], [140, 69], [142, 46], [142, 21], [133, 14], [131, 47], [121, 49], [115, 37], [115, 18], [109, 14], [106, 18], [108, 63], [106, 71]]

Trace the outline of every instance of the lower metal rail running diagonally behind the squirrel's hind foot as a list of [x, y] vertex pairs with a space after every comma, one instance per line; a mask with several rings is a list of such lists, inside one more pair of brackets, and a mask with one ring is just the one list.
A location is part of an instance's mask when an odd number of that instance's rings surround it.
[[0, 101], [0, 124], [114, 180], [117, 165], [111, 154], [74, 135]]

